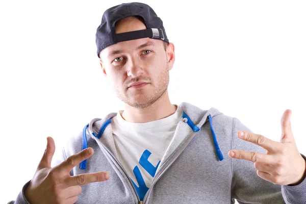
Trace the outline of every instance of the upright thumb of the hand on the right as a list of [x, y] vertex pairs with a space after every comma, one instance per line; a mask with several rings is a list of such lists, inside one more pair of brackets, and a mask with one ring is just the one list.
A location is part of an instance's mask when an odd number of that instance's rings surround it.
[[281, 142], [282, 143], [292, 143], [294, 141], [293, 133], [291, 130], [291, 122], [290, 122], [290, 117], [291, 117], [291, 110], [287, 109], [282, 116], [281, 119], [281, 126], [282, 126], [282, 137], [281, 137]]

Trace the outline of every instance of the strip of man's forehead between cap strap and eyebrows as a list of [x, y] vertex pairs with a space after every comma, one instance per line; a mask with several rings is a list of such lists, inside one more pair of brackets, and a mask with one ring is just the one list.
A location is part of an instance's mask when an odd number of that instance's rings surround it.
[[147, 46], [157, 47], [157, 46], [163, 46], [163, 44], [161, 40], [156, 40], [151, 38], [141, 38], [141, 39], [118, 42], [101, 50], [100, 57], [106, 59], [111, 57], [110, 55], [112, 54], [134, 52], [137, 51], [138, 49]]

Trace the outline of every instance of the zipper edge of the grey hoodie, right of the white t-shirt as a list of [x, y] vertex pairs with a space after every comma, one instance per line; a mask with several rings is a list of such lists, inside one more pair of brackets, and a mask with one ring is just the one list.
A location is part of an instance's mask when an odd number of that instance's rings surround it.
[[[187, 139], [185, 140], [185, 142], [182, 143], [182, 145], [174, 152], [174, 154], [172, 155], [172, 157], [170, 159], [168, 159], [164, 165], [161, 166], [160, 170], [158, 171], [158, 173], [153, 177], [152, 179], [152, 183], [151, 186], [149, 188], [149, 190], [146, 192], [144, 198], [143, 198], [143, 203], [146, 203], [147, 197], [151, 192], [152, 187], [156, 184], [156, 182], [160, 179], [160, 177], [166, 172], [166, 170], [171, 166], [171, 164], [176, 160], [177, 157], [179, 157], [182, 153], [182, 151], [186, 148], [182, 148], [182, 146], [184, 146], [184, 144], [189, 143], [191, 141], [191, 139], [193, 138], [193, 136], [196, 134], [197, 132], [192, 132]], [[142, 201], [141, 201], [142, 204]]]

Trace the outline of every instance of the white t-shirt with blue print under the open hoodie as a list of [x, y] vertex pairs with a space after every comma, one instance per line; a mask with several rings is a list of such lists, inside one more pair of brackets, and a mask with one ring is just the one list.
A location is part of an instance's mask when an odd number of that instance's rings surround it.
[[182, 119], [183, 109], [177, 106], [174, 114], [145, 123], [127, 122], [121, 113], [111, 121], [114, 142], [119, 161], [142, 200]]

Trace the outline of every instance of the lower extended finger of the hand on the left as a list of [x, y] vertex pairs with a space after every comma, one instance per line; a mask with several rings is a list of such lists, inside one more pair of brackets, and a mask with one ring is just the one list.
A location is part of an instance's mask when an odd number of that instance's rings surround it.
[[93, 182], [103, 182], [109, 179], [109, 173], [101, 171], [97, 173], [83, 173], [80, 175], [69, 176], [65, 183], [67, 186], [86, 185]]

